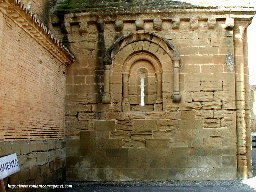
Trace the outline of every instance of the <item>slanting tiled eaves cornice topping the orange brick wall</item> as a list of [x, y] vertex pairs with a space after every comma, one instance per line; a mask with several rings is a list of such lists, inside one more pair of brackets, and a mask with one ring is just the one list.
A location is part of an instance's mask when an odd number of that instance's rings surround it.
[[67, 47], [60, 43], [43, 23], [40, 23], [36, 15], [28, 10], [25, 4], [22, 4], [22, 0], [0, 0], [0, 11], [23, 28], [63, 64], [68, 65], [75, 61]]

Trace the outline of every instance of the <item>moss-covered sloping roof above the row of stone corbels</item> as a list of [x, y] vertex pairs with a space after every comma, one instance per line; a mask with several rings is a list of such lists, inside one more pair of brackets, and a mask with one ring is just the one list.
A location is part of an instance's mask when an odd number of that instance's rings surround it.
[[[91, 12], [96, 14], [124, 14], [124, 13], [154, 13], [171, 12], [173, 9], [199, 9], [220, 8], [230, 6], [229, 4], [217, 4], [210, 0], [207, 3], [187, 3], [187, 0], [58, 0], [55, 13]], [[228, 2], [228, 0], [226, 0]], [[245, 0], [234, 0], [241, 2], [239, 6], [249, 4]], [[191, 2], [191, 1], [189, 1]], [[196, 2], [196, 0], [195, 0]], [[249, 6], [250, 7], [250, 6]]]

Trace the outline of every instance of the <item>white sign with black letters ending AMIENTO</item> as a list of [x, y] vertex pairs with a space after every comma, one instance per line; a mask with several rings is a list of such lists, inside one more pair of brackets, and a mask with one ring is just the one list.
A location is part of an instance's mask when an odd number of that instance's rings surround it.
[[16, 153], [0, 158], [0, 180], [20, 171]]

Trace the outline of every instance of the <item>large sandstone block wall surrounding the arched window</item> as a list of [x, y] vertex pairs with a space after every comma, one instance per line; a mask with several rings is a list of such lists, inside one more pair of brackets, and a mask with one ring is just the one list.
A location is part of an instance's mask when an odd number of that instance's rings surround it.
[[[240, 111], [243, 119], [236, 121], [234, 20], [191, 17], [187, 12], [182, 18], [190, 19], [182, 20], [168, 19], [172, 14], [118, 15], [118, 19], [66, 14], [62, 26], [55, 23], [54, 32], [76, 56], [67, 69], [67, 180], [247, 177], [250, 169], [247, 172], [241, 162], [247, 158], [249, 162], [249, 153], [248, 157], [237, 156], [236, 127], [245, 130], [249, 125], [245, 125], [244, 107]], [[143, 35], [146, 31], [156, 35]], [[167, 46], [155, 36], [171, 43], [169, 53], [178, 52], [181, 58], [180, 102], [172, 100], [175, 58], [168, 56]], [[111, 45], [115, 47], [109, 53], [113, 60], [108, 67], [103, 65], [103, 55]], [[129, 96], [129, 102], [123, 100], [122, 63], [137, 52], [155, 55], [162, 66], [163, 99], [157, 103], [155, 98], [148, 108], [138, 107]], [[106, 74], [110, 74], [109, 82]], [[107, 82], [111, 102], [103, 104]], [[131, 92], [137, 88], [130, 88], [129, 95], [136, 95]], [[243, 150], [245, 138], [239, 138]]]

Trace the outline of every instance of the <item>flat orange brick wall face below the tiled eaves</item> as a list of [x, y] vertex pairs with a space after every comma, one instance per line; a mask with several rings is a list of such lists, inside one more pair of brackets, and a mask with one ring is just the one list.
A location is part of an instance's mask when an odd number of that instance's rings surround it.
[[1, 141], [63, 139], [66, 66], [5, 15], [1, 29]]

